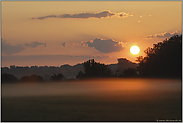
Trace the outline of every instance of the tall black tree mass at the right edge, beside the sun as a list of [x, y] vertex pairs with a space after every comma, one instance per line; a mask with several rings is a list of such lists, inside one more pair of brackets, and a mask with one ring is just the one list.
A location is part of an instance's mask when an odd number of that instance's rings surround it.
[[142, 77], [182, 76], [182, 35], [174, 35], [168, 40], [153, 44], [145, 51], [146, 57], [139, 56], [138, 72]]

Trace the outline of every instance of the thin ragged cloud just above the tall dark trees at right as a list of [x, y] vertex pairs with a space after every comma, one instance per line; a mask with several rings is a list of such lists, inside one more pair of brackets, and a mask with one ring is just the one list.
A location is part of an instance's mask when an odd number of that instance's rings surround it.
[[164, 33], [159, 33], [159, 34], [155, 34], [153, 35], [148, 35], [147, 37], [143, 38], [143, 39], [153, 39], [153, 38], [169, 38], [171, 36], [174, 35], [181, 35], [180, 33], [178, 33], [177, 31], [169, 33], [169, 32], [164, 32]]

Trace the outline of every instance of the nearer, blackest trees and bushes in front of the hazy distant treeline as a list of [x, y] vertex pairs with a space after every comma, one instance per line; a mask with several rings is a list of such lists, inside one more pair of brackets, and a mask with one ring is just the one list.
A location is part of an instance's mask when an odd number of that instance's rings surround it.
[[[80, 71], [76, 75], [77, 79], [98, 78], [98, 77], [163, 77], [181, 78], [182, 76], [182, 35], [174, 35], [162, 42], [153, 44], [145, 51], [146, 56], [137, 57], [139, 66], [137, 69], [128, 68], [123, 72], [117, 70], [112, 73], [109, 67], [103, 63], [89, 59], [83, 63], [84, 72]], [[15, 67], [15, 66], [11, 66]], [[53, 67], [54, 68], [54, 67]], [[18, 80], [12, 74], [2, 74], [2, 82], [17, 81], [39, 81], [43, 82], [43, 77], [39, 75], [23, 76]], [[53, 74], [51, 81], [61, 81], [66, 79], [62, 73]]]

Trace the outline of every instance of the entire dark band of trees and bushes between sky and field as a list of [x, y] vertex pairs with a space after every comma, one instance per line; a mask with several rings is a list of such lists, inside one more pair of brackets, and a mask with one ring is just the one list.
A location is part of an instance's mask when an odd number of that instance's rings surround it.
[[[10, 68], [2, 67], [2, 82], [18, 81], [60, 81], [66, 77], [93, 78], [93, 77], [163, 77], [181, 78], [182, 76], [182, 35], [174, 35], [157, 44], [153, 48], [148, 47], [145, 51], [146, 56], [139, 56], [136, 63], [132, 63], [126, 58], [119, 58], [117, 64], [105, 65], [95, 62], [94, 59], [85, 61], [74, 66], [62, 65], [55, 66], [15, 66]], [[137, 67], [137, 70], [136, 70]], [[137, 74], [137, 71], [139, 75]], [[61, 74], [61, 73], [62, 74]], [[5, 74], [6, 73], [6, 74]], [[52, 74], [56, 73], [56, 74]], [[8, 75], [7, 75], [8, 74]], [[16, 76], [14, 76], [14, 75]], [[25, 76], [31, 75], [34, 76]], [[37, 75], [41, 76], [37, 76]], [[77, 75], [76, 75], [77, 74]], [[13, 77], [14, 76], [14, 77]]]

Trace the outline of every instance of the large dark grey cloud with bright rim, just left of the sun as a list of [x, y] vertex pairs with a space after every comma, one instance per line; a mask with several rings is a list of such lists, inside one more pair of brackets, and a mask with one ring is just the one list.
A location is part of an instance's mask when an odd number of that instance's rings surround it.
[[94, 39], [93, 41], [86, 41], [81, 45], [88, 47], [95, 48], [96, 50], [103, 52], [103, 53], [110, 53], [110, 52], [119, 52], [124, 49], [122, 47], [122, 43], [115, 42], [112, 39], [104, 40], [104, 39]]

